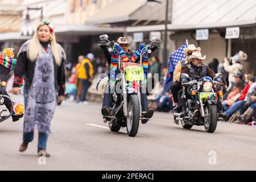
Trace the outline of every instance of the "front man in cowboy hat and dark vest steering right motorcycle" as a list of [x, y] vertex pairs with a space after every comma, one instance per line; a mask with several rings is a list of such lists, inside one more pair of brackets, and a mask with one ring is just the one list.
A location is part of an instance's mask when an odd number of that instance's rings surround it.
[[[189, 75], [189, 77], [192, 80], [196, 80], [196, 77], [199, 79], [203, 77], [211, 77], [212, 79], [216, 77], [214, 71], [208, 67], [208, 65], [203, 64], [203, 60], [206, 59], [206, 56], [202, 57], [201, 52], [196, 51], [193, 52], [191, 56], [188, 56], [188, 61], [189, 63], [187, 65], [183, 65], [181, 68], [181, 73], [186, 73]], [[223, 81], [221, 78], [217, 78], [218, 84], [223, 84]], [[187, 78], [182, 78], [181, 83], [186, 83], [188, 82]], [[183, 97], [185, 95], [185, 98]], [[183, 118], [187, 115], [186, 113], [186, 101], [187, 98], [191, 98], [191, 96], [188, 94], [187, 90], [179, 90], [178, 93], [178, 98], [179, 98], [179, 107], [181, 110], [180, 117]], [[218, 107], [218, 115], [220, 117], [226, 117], [225, 114], [222, 114], [222, 104], [221, 101], [218, 101], [217, 104]]]

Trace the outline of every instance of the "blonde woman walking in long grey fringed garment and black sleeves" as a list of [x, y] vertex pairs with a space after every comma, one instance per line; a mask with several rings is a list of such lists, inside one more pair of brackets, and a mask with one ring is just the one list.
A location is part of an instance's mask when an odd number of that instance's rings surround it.
[[27, 104], [24, 115], [23, 142], [19, 152], [27, 150], [38, 127], [38, 155], [49, 157], [47, 140], [56, 106], [56, 95], [63, 100], [65, 93], [65, 52], [56, 43], [51, 23], [39, 24], [32, 40], [20, 48], [14, 71], [13, 93], [18, 94], [21, 78], [27, 86]]

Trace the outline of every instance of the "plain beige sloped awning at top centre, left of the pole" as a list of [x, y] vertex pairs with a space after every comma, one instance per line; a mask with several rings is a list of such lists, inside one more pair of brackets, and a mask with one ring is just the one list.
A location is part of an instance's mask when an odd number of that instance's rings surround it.
[[87, 24], [159, 24], [165, 20], [166, 0], [162, 3], [147, 0], [113, 0], [109, 5], [92, 15]]

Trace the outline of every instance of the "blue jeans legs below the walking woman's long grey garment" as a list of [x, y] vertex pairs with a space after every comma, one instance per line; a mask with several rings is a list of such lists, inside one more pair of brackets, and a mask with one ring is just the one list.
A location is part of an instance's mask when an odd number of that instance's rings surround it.
[[[34, 139], [34, 131], [31, 133], [24, 133], [23, 132], [23, 142], [25, 143], [30, 143]], [[47, 140], [48, 140], [48, 135], [45, 133], [40, 133], [38, 135], [38, 148], [39, 149], [46, 149], [47, 147]]]

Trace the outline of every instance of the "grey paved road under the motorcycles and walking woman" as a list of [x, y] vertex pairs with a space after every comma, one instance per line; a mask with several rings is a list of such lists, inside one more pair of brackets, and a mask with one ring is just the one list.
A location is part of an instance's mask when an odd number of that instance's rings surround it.
[[56, 107], [48, 142], [52, 156], [46, 165], [38, 163], [44, 160], [36, 156], [37, 134], [27, 152], [20, 154], [22, 121], [0, 123], [0, 170], [256, 169], [256, 127], [220, 122], [209, 134], [204, 127], [182, 129], [170, 113], [155, 113], [131, 138], [126, 129], [110, 132], [100, 108], [68, 101]]

